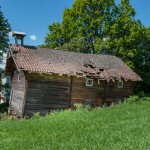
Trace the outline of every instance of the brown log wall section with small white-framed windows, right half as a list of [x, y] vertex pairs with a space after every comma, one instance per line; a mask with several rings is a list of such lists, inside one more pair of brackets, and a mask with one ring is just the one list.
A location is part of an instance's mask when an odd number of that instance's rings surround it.
[[131, 81], [124, 81], [123, 88], [117, 88], [116, 82], [106, 82], [101, 80], [98, 84], [98, 79], [93, 80], [93, 87], [86, 87], [85, 78], [72, 79], [71, 107], [74, 103], [84, 104], [86, 99], [92, 101], [92, 106], [101, 106], [103, 102], [110, 105], [112, 102], [118, 102], [133, 94]]

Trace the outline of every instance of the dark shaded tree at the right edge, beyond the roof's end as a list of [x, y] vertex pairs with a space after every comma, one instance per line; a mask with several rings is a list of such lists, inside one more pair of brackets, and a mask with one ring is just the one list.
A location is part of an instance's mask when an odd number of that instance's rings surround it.
[[141, 76], [143, 82], [137, 84], [136, 89], [150, 92], [150, 27], [144, 28], [141, 36], [141, 44], [134, 58], [135, 71]]

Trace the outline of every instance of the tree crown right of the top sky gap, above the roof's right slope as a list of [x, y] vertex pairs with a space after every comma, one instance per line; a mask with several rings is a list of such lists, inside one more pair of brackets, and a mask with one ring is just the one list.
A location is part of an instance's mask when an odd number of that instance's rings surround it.
[[120, 57], [132, 69], [134, 69], [133, 58], [138, 52], [143, 32], [143, 26], [139, 20], [135, 20], [135, 14], [129, 0], [121, 0], [117, 17], [110, 26], [105, 45], [102, 47], [108, 54]]

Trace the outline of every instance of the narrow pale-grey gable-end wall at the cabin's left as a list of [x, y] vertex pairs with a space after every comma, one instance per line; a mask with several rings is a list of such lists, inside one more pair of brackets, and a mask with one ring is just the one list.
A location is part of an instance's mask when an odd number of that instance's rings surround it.
[[11, 85], [10, 109], [22, 117], [25, 99], [25, 75], [23, 71], [19, 73], [14, 71]]

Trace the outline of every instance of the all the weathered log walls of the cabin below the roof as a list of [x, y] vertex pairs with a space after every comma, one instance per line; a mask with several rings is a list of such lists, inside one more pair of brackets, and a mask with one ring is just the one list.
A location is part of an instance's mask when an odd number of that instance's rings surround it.
[[74, 108], [75, 103], [91, 100], [92, 107], [110, 105], [132, 95], [132, 82], [125, 82], [117, 88], [117, 82], [93, 80], [93, 86], [86, 86], [85, 78], [14, 72], [10, 107], [19, 116], [32, 116], [34, 112], [46, 114], [57, 109]]

